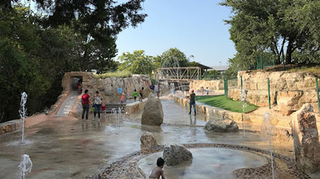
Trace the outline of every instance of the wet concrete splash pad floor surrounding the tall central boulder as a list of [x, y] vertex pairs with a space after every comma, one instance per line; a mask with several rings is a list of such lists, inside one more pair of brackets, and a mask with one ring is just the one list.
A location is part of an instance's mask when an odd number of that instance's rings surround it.
[[[188, 110], [163, 101], [164, 123], [204, 125], [203, 115], [190, 116]], [[227, 143], [268, 149], [259, 134], [208, 133], [202, 127], [141, 126], [140, 114], [117, 120], [103, 114], [101, 121], [86, 122], [77, 118], [53, 117], [26, 129], [28, 145], [15, 145], [21, 132], [0, 136], [0, 178], [19, 178], [18, 165], [22, 154], [29, 154], [33, 168], [28, 178], [85, 178], [122, 156], [140, 150], [143, 131], [154, 134], [161, 145], [176, 143]], [[274, 141], [274, 138], [272, 138]], [[272, 143], [273, 143], [272, 141]], [[291, 145], [273, 143], [275, 152], [292, 156]]]

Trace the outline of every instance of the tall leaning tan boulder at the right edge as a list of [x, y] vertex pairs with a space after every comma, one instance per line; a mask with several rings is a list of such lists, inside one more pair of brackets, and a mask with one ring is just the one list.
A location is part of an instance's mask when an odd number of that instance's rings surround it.
[[291, 127], [298, 167], [307, 172], [320, 169], [320, 144], [312, 105], [307, 103], [291, 115]]

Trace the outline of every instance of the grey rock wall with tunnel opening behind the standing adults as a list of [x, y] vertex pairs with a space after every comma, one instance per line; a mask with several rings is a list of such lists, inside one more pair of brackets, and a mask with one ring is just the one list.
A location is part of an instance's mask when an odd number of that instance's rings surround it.
[[151, 81], [147, 75], [132, 75], [127, 78], [95, 78], [90, 72], [68, 72], [63, 76], [62, 87], [63, 93], [68, 93], [72, 90], [72, 78], [81, 76], [83, 79], [82, 88], [89, 89], [90, 96], [98, 90], [103, 96], [103, 101], [106, 103], [120, 103], [121, 93], [117, 92], [118, 88], [122, 88], [122, 92], [126, 94], [126, 98], [132, 96], [134, 89], [144, 87], [143, 98], [148, 97], [150, 93], [149, 85]]

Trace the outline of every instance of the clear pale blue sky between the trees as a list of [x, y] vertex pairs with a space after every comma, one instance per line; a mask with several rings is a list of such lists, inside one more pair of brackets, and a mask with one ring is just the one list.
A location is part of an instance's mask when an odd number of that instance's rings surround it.
[[169, 48], [178, 48], [204, 65], [226, 65], [235, 54], [230, 40], [230, 8], [214, 0], [146, 0], [146, 20], [137, 28], [127, 28], [118, 35], [118, 54], [145, 50], [157, 56]]

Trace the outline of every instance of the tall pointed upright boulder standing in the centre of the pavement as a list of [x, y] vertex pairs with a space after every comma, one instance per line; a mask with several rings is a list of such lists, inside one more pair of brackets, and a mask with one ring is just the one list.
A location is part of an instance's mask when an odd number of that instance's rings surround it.
[[143, 107], [141, 125], [161, 125], [163, 123], [163, 110], [159, 98], [150, 93]]

